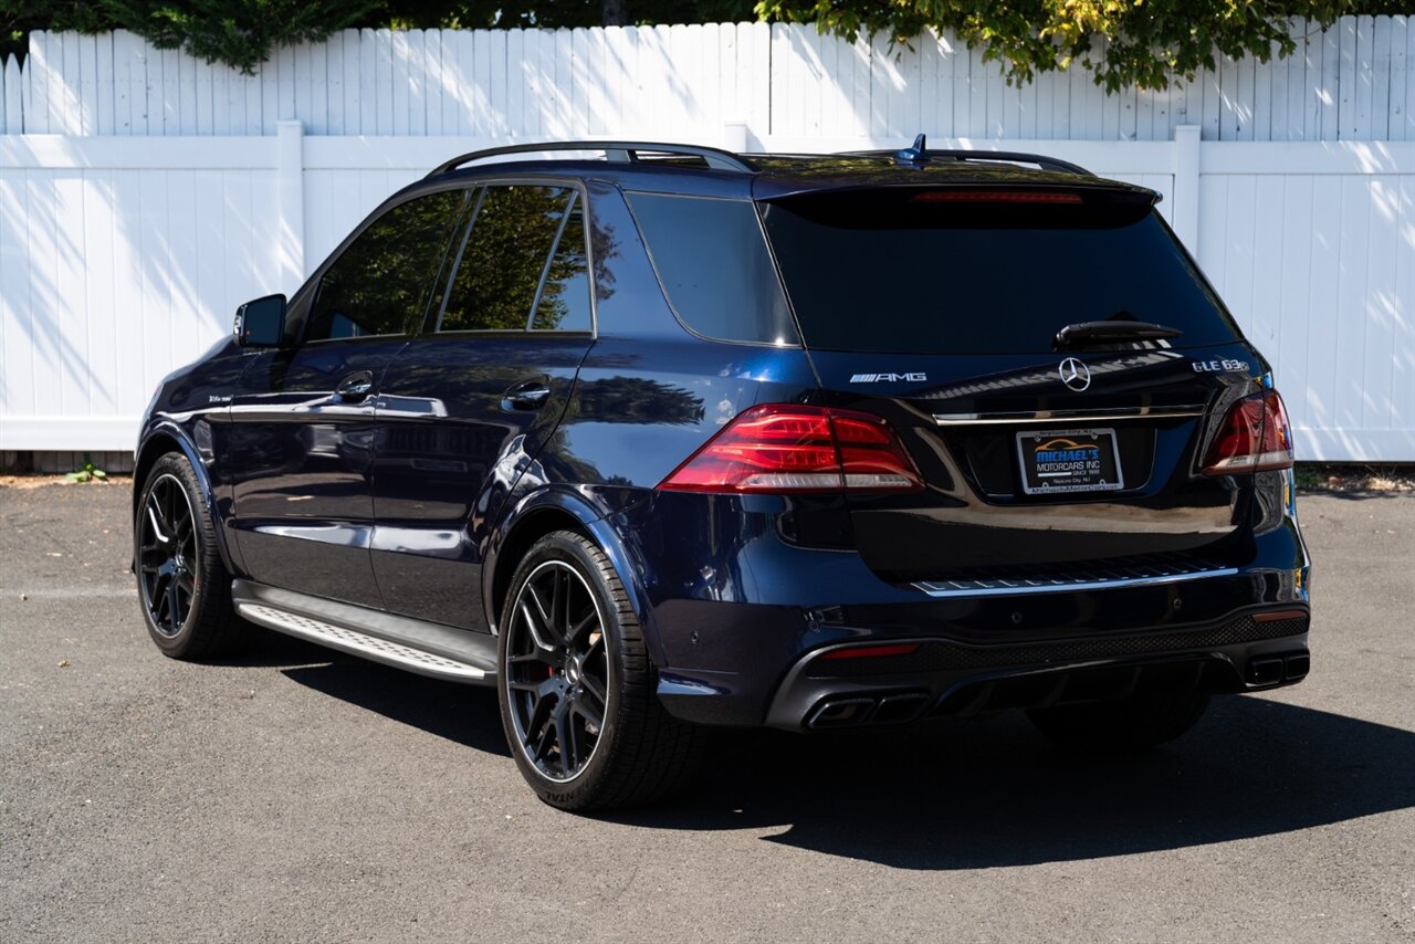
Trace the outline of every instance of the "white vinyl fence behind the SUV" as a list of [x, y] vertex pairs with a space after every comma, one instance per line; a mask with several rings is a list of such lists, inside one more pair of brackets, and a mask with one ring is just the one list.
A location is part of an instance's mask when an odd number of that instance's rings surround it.
[[[814, 27], [347, 31], [242, 76], [35, 34], [0, 100], [0, 450], [129, 449], [156, 382], [376, 202], [508, 142], [1022, 149], [1165, 195], [1274, 362], [1299, 459], [1415, 460], [1415, 28], [1302, 24], [1165, 93], [1006, 85], [948, 38]], [[163, 140], [153, 140], [161, 136]], [[1026, 140], [1026, 144], [1015, 143]]]

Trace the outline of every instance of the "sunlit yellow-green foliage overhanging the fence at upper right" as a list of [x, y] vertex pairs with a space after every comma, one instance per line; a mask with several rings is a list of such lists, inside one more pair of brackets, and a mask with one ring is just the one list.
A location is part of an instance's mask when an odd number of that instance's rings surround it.
[[761, 0], [768, 20], [815, 21], [848, 40], [884, 34], [910, 44], [952, 30], [1000, 61], [1010, 81], [1078, 64], [1109, 91], [1162, 89], [1193, 78], [1215, 55], [1266, 62], [1290, 55], [1289, 21], [1322, 27], [1348, 13], [1409, 13], [1415, 0]]

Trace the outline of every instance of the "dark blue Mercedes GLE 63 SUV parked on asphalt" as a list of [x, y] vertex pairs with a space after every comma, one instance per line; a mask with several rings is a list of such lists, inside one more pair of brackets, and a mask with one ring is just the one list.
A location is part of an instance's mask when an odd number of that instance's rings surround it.
[[923, 137], [449, 161], [160, 386], [151, 637], [495, 685], [572, 810], [706, 726], [1173, 739], [1307, 672], [1309, 560], [1269, 368], [1156, 200]]

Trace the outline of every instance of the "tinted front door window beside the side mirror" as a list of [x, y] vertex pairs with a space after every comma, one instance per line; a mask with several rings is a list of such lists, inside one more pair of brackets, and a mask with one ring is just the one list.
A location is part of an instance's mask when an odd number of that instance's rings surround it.
[[417, 197], [359, 234], [320, 280], [304, 338], [415, 331], [464, 200], [460, 190]]

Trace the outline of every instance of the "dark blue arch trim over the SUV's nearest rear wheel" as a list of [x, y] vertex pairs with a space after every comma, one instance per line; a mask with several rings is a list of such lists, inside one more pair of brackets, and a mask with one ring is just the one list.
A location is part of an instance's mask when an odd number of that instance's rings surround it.
[[654, 624], [654, 610], [644, 592], [638, 575], [638, 556], [631, 551], [618, 531], [606, 519], [604, 512], [573, 493], [542, 490], [522, 498], [507, 512], [490, 542], [487, 562], [483, 568], [483, 601], [487, 626], [497, 631], [501, 606], [511, 577], [531, 546], [553, 531], [573, 531], [604, 551], [610, 566], [628, 593], [630, 606], [644, 631], [649, 655], [657, 665], [664, 665], [662, 648]]

